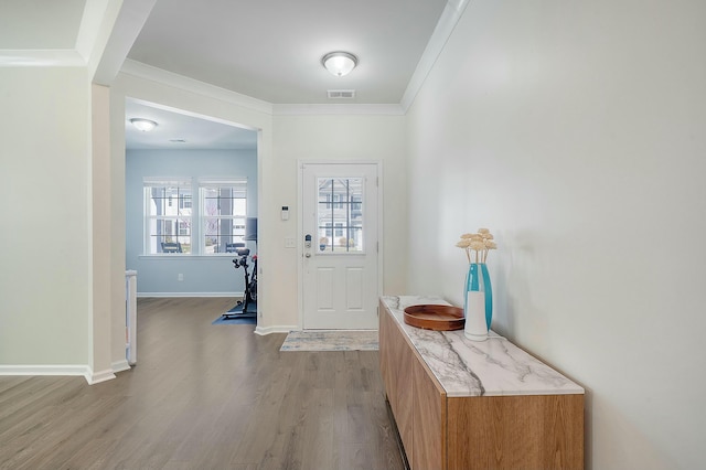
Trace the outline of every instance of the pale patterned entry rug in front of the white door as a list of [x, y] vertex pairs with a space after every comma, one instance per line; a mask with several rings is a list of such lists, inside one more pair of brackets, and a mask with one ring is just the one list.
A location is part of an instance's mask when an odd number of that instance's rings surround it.
[[377, 330], [290, 331], [280, 351], [377, 351]]

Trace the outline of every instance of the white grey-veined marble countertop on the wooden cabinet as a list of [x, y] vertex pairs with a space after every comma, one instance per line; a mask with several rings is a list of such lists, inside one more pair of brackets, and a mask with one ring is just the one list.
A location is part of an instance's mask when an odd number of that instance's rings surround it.
[[491, 331], [486, 341], [463, 330], [431, 331], [405, 323], [404, 310], [422, 303], [449, 305], [438, 297], [383, 296], [403, 331], [427, 362], [447, 396], [564, 395], [584, 388]]

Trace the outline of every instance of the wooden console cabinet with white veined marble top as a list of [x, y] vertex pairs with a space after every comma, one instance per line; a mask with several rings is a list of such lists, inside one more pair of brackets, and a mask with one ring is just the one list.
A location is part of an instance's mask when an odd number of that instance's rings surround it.
[[383, 297], [379, 314], [382, 376], [413, 470], [584, 468], [580, 386], [500, 337], [404, 323], [415, 303], [435, 302]]

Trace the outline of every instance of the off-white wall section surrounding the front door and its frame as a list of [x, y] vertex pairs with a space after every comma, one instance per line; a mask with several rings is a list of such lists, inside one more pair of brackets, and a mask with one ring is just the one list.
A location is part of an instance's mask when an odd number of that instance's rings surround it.
[[277, 270], [271, 273], [277, 286], [277, 320], [274, 324], [297, 325], [298, 293], [297, 250], [285, 248], [285, 238], [297, 233], [297, 161], [364, 160], [383, 165], [383, 289], [388, 293], [404, 290], [407, 225], [404, 159], [404, 116], [400, 115], [299, 115], [275, 116], [272, 149], [276, 159], [276, 184], [269, 188], [274, 209], [289, 206], [289, 221], [275, 221], [276, 236], [271, 256]]

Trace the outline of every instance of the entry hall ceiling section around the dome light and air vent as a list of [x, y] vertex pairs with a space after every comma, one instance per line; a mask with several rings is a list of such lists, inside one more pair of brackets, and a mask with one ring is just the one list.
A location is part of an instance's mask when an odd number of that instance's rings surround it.
[[[161, 0], [128, 57], [275, 104], [399, 103], [446, 0]], [[345, 77], [321, 57], [355, 54]], [[349, 103], [349, 102], [345, 102]]]

